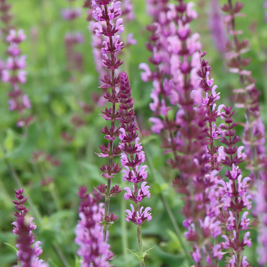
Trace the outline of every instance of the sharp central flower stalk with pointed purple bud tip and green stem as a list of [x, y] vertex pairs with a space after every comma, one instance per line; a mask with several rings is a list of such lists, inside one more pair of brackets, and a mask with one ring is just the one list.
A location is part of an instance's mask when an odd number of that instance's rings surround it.
[[[121, 140], [119, 148], [122, 151], [121, 164], [123, 169], [123, 180], [133, 183], [133, 190], [125, 187], [124, 198], [130, 199], [135, 203], [135, 208], [132, 204], [131, 210], [125, 210], [127, 213], [126, 221], [132, 221], [136, 224], [137, 240], [140, 266], [144, 267], [144, 255], [142, 244], [142, 230], [141, 224], [152, 219], [150, 207], [140, 207], [140, 202], [145, 196], [150, 197], [149, 188], [145, 182], [147, 178], [146, 165], [140, 166], [145, 161], [145, 154], [142, 151], [142, 146], [139, 143], [138, 130], [135, 124], [135, 116], [133, 110], [133, 99], [131, 97], [131, 87], [128, 76], [125, 72], [120, 74], [120, 93], [119, 93], [119, 114], [120, 118], [120, 132], [119, 138]], [[142, 183], [141, 183], [142, 182]], [[139, 188], [138, 184], [141, 183]]]

